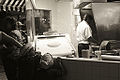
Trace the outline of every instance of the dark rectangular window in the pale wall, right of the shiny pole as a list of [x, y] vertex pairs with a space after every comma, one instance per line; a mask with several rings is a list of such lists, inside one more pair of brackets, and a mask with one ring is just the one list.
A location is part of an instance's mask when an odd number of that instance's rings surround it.
[[50, 10], [35, 10], [35, 35], [42, 35], [49, 31], [50, 26]]

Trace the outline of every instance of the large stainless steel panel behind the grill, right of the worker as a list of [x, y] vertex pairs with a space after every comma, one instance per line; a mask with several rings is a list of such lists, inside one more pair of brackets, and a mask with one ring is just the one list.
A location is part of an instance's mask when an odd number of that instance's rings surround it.
[[120, 3], [93, 3], [98, 39], [120, 40]]

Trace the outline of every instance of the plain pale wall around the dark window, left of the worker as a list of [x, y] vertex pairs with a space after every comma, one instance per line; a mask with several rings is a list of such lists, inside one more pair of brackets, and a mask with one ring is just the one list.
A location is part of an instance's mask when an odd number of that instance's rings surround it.
[[[70, 34], [71, 41], [77, 50], [72, 0], [33, 0], [33, 2], [37, 9], [51, 10], [52, 30]], [[27, 9], [29, 8], [30, 6], [27, 6]]]

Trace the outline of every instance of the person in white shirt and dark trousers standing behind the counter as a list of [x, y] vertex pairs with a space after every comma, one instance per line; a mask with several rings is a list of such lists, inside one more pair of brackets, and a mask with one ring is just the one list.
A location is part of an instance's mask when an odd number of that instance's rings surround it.
[[92, 36], [92, 30], [89, 26], [90, 21], [90, 15], [85, 14], [83, 16], [82, 21], [78, 24], [76, 35], [78, 40], [78, 55], [79, 57], [82, 57], [82, 50], [83, 49], [89, 49], [90, 43], [98, 43], [93, 36]]

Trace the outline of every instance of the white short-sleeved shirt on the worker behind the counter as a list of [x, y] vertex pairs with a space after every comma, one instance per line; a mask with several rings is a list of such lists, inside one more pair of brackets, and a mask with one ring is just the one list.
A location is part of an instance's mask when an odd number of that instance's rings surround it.
[[89, 43], [87, 41], [87, 39], [92, 36], [92, 30], [90, 28], [90, 26], [88, 25], [88, 23], [83, 20], [82, 22], [80, 22], [77, 26], [77, 40], [79, 43], [84, 43], [87, 44]]

